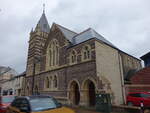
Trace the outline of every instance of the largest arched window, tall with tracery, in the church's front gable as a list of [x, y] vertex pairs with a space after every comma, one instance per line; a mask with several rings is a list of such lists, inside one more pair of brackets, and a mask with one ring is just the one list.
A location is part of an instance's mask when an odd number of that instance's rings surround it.
[[59, 45], [57, 40], [52, 40], [48, 47], [48, 66], [56, 66], [59, 62]]

